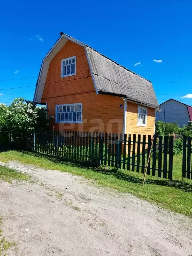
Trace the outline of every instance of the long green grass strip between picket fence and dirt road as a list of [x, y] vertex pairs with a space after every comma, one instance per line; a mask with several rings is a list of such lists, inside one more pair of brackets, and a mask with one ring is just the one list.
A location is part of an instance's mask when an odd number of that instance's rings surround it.
[[183, 179], [182, 181], [182, 155], [174, 156], [172, 181], [147, 175], [144, 186], [142, 186], [143, 174], [132, 171], [86, 168], [29, 152], [7, 151], [0, 153], [0, 161], [13, 160], [44, 169], [82, 175], [87, 179], [96, 180], [99, 185], [118, 189], [125, 193], [132, 193], [162, 208], [192, 216], [192, 181], [189, 179]]

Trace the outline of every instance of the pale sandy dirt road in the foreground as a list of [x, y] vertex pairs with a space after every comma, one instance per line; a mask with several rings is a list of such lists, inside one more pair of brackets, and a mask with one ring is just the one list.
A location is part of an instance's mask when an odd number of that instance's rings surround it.
[[0, 181], [2, 229], [18, 247], [10, 255], [192, 255], [188, 217], [83, 177], [10, 165], [35, 181]]

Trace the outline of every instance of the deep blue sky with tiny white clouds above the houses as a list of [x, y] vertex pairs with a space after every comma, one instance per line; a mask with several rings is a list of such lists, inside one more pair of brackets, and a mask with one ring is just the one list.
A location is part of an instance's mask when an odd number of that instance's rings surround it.
[[3, 1], [0, 102], [33, 99], [42, 58], [63, 31], [152, 81], [159, 103], [192, 105], [192, 95], [181, 98], [192, 94], [191, 8], [188, 0]]

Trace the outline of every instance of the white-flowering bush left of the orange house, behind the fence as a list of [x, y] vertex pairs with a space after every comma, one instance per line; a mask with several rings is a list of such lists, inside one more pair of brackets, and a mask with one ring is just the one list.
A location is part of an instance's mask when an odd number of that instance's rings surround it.
[[37, 107], [33, 101], [23, 98], [15, 99], [10, 106], [0, 106], [0, 125], [9, 130], [46, 129], [50, 119], [45, 107]]

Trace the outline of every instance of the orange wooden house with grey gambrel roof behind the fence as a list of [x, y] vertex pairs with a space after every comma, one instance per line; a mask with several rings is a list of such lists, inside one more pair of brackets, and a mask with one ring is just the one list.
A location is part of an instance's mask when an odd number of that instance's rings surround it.
[[34, 95], [46, 103], [55, 129], [153, 135], [160, 107], [152, 83], [60, 35], [42, 61]]

